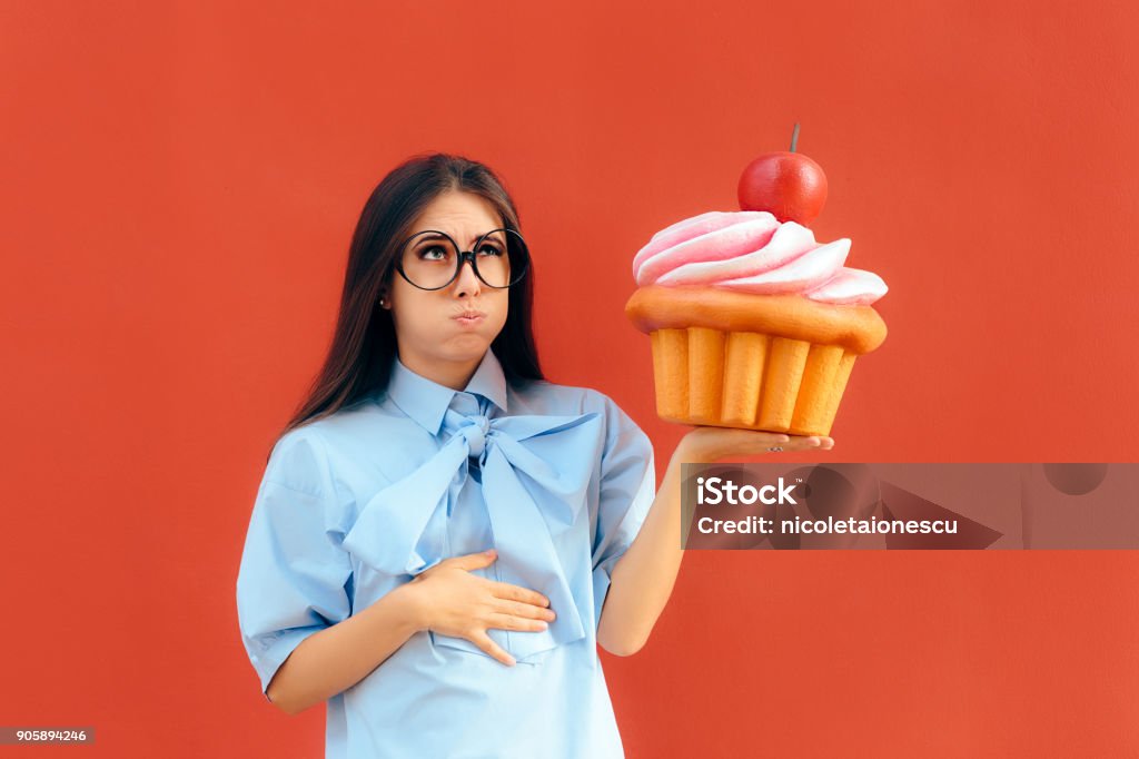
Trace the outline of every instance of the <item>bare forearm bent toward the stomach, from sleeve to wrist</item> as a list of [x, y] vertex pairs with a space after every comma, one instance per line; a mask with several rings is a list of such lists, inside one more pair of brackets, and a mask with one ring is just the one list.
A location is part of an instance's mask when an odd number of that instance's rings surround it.
[[359, 614], [302, 640], [273, 675], [265, 695], [289, 715], [330, 699], [423, 629], [420, 618], [416, 589], [401, 585]]

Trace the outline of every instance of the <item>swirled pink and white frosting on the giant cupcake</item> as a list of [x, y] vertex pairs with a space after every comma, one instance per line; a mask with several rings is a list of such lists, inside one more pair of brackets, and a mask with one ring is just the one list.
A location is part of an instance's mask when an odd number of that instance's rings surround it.
[[720, 287], [869, 305], [886, 294], [886, 283], [843, 266], [850, 248], [846, 238], [817, 243], [806, 227], [780, 223], [767, 211], [711, 211], [653, 235], [633, 258], [633, 277], [642, 287]]

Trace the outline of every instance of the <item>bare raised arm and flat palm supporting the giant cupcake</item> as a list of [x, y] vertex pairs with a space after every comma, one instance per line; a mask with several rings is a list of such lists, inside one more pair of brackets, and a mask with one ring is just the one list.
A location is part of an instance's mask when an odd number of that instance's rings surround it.
[[828, 450], [834, 440], [721, 427], [697, 427], [681, 439], [640, 532], [613, 568], [597, 628], [603, 648], [617, 656], [640, 651], [672, 595], [685, 555], [680, 548], [680, 465], [765, 454], [771, 446]]

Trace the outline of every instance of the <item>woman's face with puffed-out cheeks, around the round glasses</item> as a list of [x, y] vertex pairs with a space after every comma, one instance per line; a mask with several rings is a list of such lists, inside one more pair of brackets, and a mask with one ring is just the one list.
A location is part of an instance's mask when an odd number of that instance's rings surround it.
[[[424, 210], [407, 236], [434, 229], [450, 235], [460, 250], [469, 251], [485, 232], [503, 226], [486, 199], [450, 190]], [[485, 285], [469, 262], [442, 289], [420, 289], [395, 272], [391, 285], [382, 292], [382, 305], [392, 312], [400, 360], [436, 382], [441, 382], [439, 377], [458, 377], [456, 382], [464, 382], [464, 374], [477, 368], [506, 324], [508, 293], [508, 288]], [[472, 312], [481, 316], [460, 318]]]

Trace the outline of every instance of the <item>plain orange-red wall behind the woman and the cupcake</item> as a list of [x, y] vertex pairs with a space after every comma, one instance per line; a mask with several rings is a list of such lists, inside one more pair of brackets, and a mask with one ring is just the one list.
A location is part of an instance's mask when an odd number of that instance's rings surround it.
[[[796, 121], [817, 236], [891, 286], [802, 460], [1136, 460], [1139, 13], [993, 5], [3, 2], [0, 724], [321, 754], [321, 709], [259, 693], [233, 583], [357, 215], [420, 150], [505, 177], [548, 374], [661, 472], [632, 254], [735, 209]], [[1126, 552], [690, 552], [649, 645], [603, 656], [630, 757], [1118, 756], [1137, 580]]]

